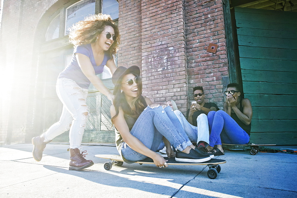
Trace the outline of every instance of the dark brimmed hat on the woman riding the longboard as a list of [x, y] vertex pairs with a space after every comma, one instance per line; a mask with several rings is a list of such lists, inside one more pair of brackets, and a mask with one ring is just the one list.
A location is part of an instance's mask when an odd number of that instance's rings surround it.
[[123, 78], [123, 76], [125, 76], [126, 74], [129, 74], [129, 73], [136, 74], [137, 76], [140, 76], [140, 69], [138, 66], [135, 66], [135, 65], [133, 65], [129, 68], [120, 66], [113, 73], [112, 78], [111, 78], [111, 80], [114, 84], [113, 95], [116, 94], [116, 92], [119, 90], [120, 84], [121, 84], [120, 81]]

